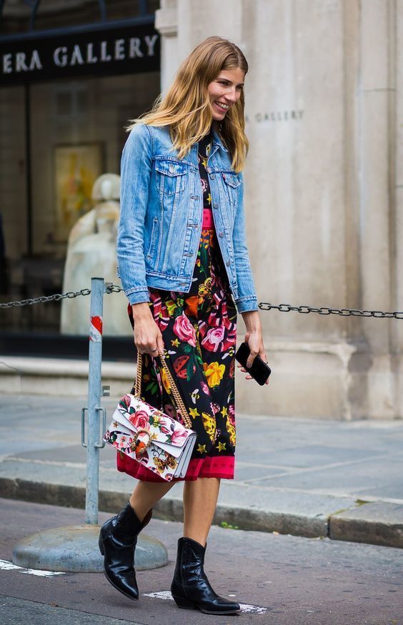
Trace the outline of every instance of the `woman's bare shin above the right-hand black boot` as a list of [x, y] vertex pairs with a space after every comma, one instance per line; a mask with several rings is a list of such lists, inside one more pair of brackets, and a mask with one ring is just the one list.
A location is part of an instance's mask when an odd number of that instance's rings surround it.
[[184, 483], [184, 536], [203, 547], [216, 510], [219, 486], [217, 477], [199, 477]]

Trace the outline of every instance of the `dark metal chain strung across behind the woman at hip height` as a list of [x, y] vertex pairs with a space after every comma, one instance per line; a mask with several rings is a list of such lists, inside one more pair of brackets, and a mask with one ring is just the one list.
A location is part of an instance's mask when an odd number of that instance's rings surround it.
[[[119, 293], [123, 289], [116, 284], [106, 283], [105, 293]], [[0, 308], [14, 308], [16, 306], [31, 306], [32, 304], [43, 304], [46, 302], [58, 302], [65, 298], [77, 298], [79, 295], [90, 295], [91, 289], [81, 289], [81, 291], [69, 291], [69, 293], [55, 293], [55, 295], [42, 296], [40, 298], [33, 298], [30, 300], [21, 300], [16, 302], [0, 303]], [[322, 308], [315, 308], [314, 306], [292, 306], [291, 304], [270, 304], [269, 302], [260, 302], [259, 308], [261, 310], [279, 310], [280, 313], [302, 313], [307, 315], [308, 313], [317, 313], [318, 315], [339, 315], [340, 317], [374, 317], [374, 318], [393, 318], [403, 319], [402, 312], [383, 313], [382, 310], [359, 310], [357, 308], [329, 308], [322, 306]]]

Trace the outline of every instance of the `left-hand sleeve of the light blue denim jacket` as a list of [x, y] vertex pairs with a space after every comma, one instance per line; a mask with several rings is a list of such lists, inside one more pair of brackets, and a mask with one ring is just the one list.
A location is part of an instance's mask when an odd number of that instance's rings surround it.
[[130, 304], [149, 302], [144, 260], [144, 217], [149, 200], [152, 138], [137, 124], [121, 155], [120, 218], [116, 255], [119, 277]]

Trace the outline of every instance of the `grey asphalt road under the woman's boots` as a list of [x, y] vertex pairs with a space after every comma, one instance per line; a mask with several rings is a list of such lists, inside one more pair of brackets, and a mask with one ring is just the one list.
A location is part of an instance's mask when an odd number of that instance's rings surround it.
[[[22, 537], [84, 522], [81, 510], [9, 499], [0, 499], [0, 511], [3, 561]], [[138, 573], [139, 601], [119, 594], [102, 574], [44, 577], [0, 566], [1, 624], [403, 624], [401, 549], [212, 527], [206, 557], [212, 585], [260, 610], [209, 616], [150, 596], [169, 590], [181, 524], [153, 520], [146, 533], [166, 544], [169, 564]]]

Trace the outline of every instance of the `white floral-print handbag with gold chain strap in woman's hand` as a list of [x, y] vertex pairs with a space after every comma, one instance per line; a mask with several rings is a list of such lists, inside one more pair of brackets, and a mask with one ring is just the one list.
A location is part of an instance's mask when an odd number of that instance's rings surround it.
[[126, 454], [162, 479], [170, 481], [174, 477], [184, 477], [186, 474], [196, 442], [196, 432], [191, 430], [189, 414], [166, 365], [165, 356], [160, 350], [158, 352], [176, 410], [180, 412], [186, 427], [141, 399], [143, 355], [139, 354], [134, 395], [127, 393], [121, 398], [111, 424], [105, 432], [104, 440], [121, 454]]

